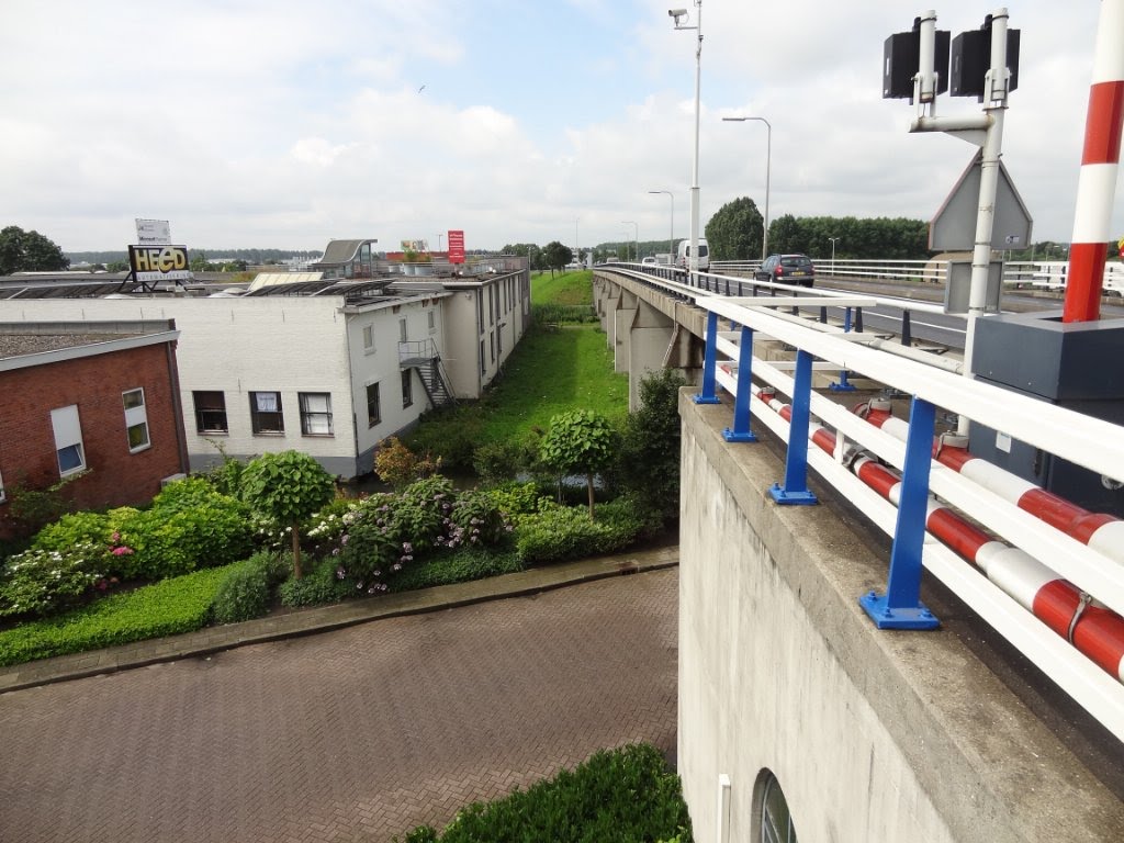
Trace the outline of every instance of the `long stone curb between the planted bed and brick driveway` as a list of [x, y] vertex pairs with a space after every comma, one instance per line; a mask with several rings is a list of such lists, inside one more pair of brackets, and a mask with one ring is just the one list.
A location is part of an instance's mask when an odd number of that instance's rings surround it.
[[678, 564], [678, 546], [659, 547], [534, 568], [452, 586], [435, 586], [417, 591], [301, 609], [239, 624], [210, 626], [184, 635], [149, 638], [0, 668], [0, 694], [206, 656], [251, 644], [345, 629], [374, 620], [454, 609], [511, 597], [526, 597], [610, 577], [663, 570]]

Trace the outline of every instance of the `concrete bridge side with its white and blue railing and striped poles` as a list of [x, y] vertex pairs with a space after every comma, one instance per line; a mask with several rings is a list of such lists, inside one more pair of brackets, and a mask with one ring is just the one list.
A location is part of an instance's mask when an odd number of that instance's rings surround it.
[[[787, 817], [801, 840], [1118, 841], [1121, 401], [1098, 418], [967, 378], [962, 345], [916, 334], [943, 307], [830, 288], [595, 271], [632, 400], [659, 366], [694, 384], [679, 769], [696, 839]], [[897, 329], [861, 330], [876, 311]], [[1001, 370], [1027, 317], [988, 318], [1000, 338], [973, 359]], [[1059, 474], [1072, 495], [1042, 488]]]

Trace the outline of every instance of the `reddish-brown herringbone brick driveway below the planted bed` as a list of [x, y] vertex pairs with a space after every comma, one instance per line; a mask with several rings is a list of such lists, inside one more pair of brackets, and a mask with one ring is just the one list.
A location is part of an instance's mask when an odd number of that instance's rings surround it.
[[389, 841], [676, 744], [676, 569], [0, 696], [0, 841]]

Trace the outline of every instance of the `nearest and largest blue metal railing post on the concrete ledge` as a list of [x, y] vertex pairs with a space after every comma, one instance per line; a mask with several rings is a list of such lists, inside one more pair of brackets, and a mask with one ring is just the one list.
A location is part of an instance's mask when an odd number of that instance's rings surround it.
[[921, 601], [921, 558], [928, 517], [928, 474], [933, 464], [935, 424], [936, 408], [914, 397], [886, 596], [879, 597], [871, 590], [859, 598], [879, 629], [933, 629], [940, 625]]

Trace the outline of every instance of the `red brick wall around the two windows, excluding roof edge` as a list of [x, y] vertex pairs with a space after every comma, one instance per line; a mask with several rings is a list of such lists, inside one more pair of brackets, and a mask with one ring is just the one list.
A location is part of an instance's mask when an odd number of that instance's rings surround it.
[[[174, 347], [174, 346], [173, 346]], [[58, 481], [51, 410], [78, 405], [88, 474], [64, 495], [80, 509], [145, 504], [169, 474], [187, 471], [167, 361], [161, 343], [0, 372], [0, 474], [7, 489]], [[121, 393], [144, 388], [152, 446], [129, 453]], [[7, 504], [0, 504], [0, 535]]]

